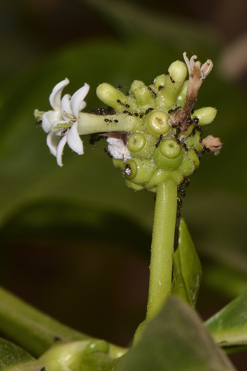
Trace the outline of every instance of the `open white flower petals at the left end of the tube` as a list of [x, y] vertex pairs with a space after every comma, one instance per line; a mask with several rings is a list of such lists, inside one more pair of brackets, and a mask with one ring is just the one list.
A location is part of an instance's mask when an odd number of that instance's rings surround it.
[[86, 106], [84, 98], [89, 91], [89, 85], [85, 83], [71, 97], [66, 94], [61, 100], [62, 90], [68, 83], [66, 78], [56, 84], [49, 97], [53, 110], [42, 115], [42, 129], [48, 133], [46, 142], [51, 154], [56, 156], [59, 166], [62, 166], [62, 153], [66, 142], [78, 155], [83, 154], [83, 144], [78, 134], [79, 111]]

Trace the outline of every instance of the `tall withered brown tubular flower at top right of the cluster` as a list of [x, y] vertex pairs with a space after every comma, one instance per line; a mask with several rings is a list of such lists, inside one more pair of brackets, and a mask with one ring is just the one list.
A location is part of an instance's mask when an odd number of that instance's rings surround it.
[[183, 53], [183, 58], [189, 72], [189, 84], [186, 93], [186, 102], [183, 106], [183, 109], [173, 115], [172, 122], [174, 125], [179, 126], [181, 131], [186, 131], [189, 125], [191, 125], [190, 114], [195, 105], [199, 88], [202, 84], [202, 81], [211, 71], [213, 63], [208, 59], [207, 62], [201, 66], [199, 61], [194, 61], [194, 59], [197, 58], [196, 55], [193, 55], [189, 60], [186, 56], [186, 52]]

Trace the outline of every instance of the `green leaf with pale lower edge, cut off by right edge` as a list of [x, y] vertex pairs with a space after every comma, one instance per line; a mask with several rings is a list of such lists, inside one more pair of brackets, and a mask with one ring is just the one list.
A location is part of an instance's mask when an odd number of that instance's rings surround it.
[[246, 350], [243, 345], [247, 346], [247, 290], [209, 318], [205, 326], [227, 351]]

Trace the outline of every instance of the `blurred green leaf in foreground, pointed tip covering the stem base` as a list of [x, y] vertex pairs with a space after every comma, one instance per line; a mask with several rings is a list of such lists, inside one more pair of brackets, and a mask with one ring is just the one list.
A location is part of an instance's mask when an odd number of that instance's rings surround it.
[[171, 298], [150, 321], [138, 344], [117, 371], [233, 371], [198, 316], [179, 298]]

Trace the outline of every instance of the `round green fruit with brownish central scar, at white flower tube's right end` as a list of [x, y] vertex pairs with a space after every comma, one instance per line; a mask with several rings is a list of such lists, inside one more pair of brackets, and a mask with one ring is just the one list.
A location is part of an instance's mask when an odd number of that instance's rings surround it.
[[156, 137], [167, 134], [170, 131], [168, 120], [170, 116], [161, 110], [152, 111], [147, 118], [147, 131]]

